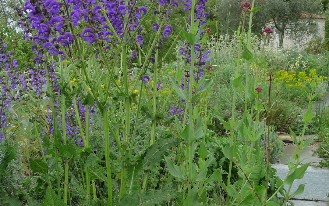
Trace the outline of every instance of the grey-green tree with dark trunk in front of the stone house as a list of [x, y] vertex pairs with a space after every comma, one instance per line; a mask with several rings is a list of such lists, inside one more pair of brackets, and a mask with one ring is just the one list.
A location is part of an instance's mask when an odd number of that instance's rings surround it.
[[279, 46], [282, 46], [286, 32], [289, 32], [294, 39], [302, 37], [305, 32], [312, 33], [308, 24], [313, 14], [320, 10], [320, 1], [266, 0], [260, 13], [273, 21], [279, 31]]

